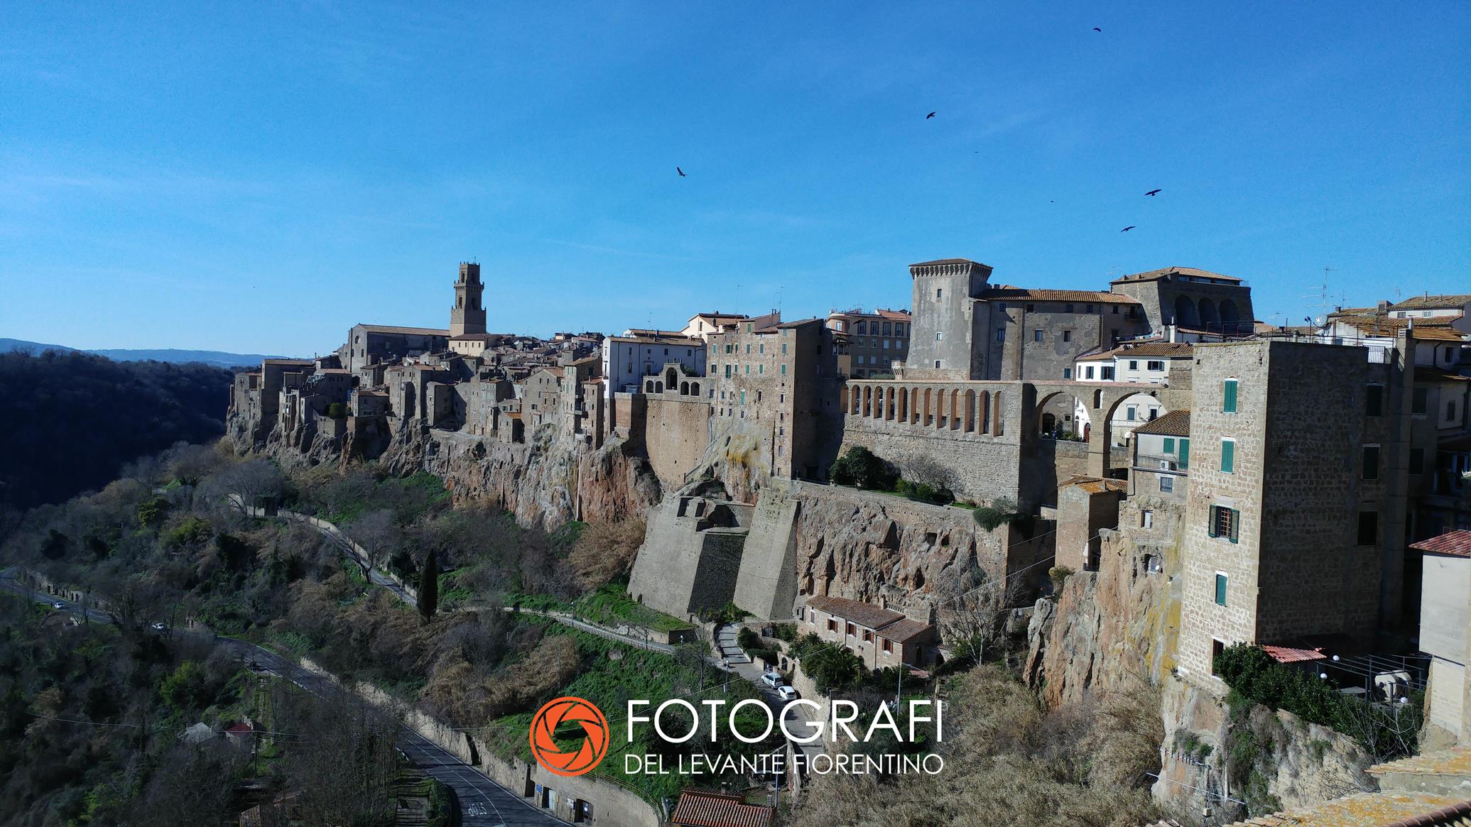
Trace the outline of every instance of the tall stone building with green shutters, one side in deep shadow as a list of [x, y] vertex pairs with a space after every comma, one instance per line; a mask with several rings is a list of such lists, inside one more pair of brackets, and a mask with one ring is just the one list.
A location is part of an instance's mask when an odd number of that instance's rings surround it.
[[1403, 417], [1364, 348], [1197, 345], [1180, 668], [1234, 642], [1350, 654], [1397, 621]]

